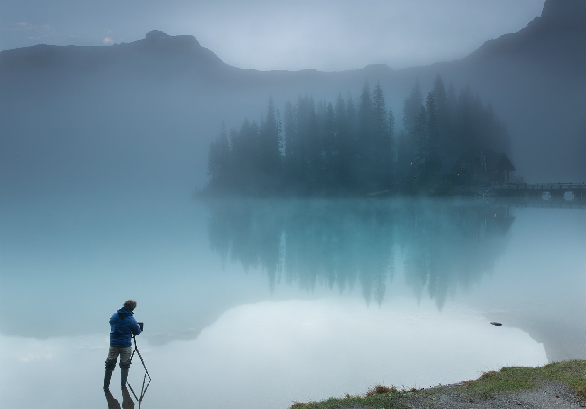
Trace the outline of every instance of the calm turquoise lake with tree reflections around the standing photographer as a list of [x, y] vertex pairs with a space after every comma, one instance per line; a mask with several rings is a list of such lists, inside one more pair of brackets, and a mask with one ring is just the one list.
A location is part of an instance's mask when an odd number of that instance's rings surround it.
[[[147, 409], [586, 357], [584, 202], [56, 198], [2, 209], [0, 248], [2, 408], [108, 407], [108, 319], [129, 298]], [[135, 391], [143, 376], [133, 360]]]

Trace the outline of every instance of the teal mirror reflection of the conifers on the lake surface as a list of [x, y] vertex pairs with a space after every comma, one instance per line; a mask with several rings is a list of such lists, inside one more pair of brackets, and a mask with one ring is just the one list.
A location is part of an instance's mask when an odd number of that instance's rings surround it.
[[[389, 278], [403, 267], [414, 295], [439, 308], [450, 292], [492, 271], [515, 220], [507, 208], [408, 200], [239, 199], [208, 202], [210, 246], [246, 270], [312, 291], [359, 283], [367, 304], [380, 305]], [[446, 240], [449, 237], [449, 240]], [[397, 258], [403, 261], [397, 265]]]

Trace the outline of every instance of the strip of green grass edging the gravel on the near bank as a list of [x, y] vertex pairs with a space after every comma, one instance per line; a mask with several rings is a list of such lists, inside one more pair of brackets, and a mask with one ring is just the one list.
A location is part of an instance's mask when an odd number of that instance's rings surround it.
[[363, 395], [346, 394], [342, 398], [329, 398], [321, 402], [295, 402], [289, 409], [407, 408], [408, 401], [425, 400], [438, 394], [456, 391], [471, 399], [486, 399], [502, 392], [539, 388], [547, 381], [566, 384], [586, 401], [586, 364], [583, 360], [570, 360], [540, 367], [503, 367], [498, 372], [483, 373], [477, 380], [421, 390], [397, 390], [393, 386], [376, 385]]

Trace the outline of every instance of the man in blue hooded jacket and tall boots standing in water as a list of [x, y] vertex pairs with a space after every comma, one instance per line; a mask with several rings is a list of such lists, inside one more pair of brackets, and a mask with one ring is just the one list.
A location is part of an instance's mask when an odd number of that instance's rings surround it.
[[116, 367], [118, 354], [120, 354], [120, 383], [126, 385], [128, 379], [128, 368], [130, 368], [130, 357], [132, 353], [131, 335], [141, 333], [137, 320], [132, 316], [137, 307], [137, 302], [129, 299], [124, 306], [114, 313], [110, 318], [110, 350], [106, 359], [106, 372], [104, 374], [104, 390], [110, 387], [112, 371]]

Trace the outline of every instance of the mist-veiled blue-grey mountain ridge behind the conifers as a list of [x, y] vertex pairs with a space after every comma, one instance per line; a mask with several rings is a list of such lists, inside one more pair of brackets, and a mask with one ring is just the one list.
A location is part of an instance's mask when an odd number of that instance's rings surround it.
[[[335, 101], [338, 93], [356, 97], [365, 79], [371, 86], [379, 81], [399, 126], [403, 99], [415, 81], [425, 94], [440, 74], [446, 86], [469, 84], [485, 101], [492, 101], [509, 127], [510, 157], [520, 174], [539, 182], [586, 179], [585, 36], [584, 22], [575, 17], [583, 8], [583, 1], [547, 0], [542, 16], [526, 28], [487, 40], [464, 59], [400, 70], [385, 64], [332, 72], [241, 69], [224, 63], [193, 36], [157, 30], [144, 39], [107, 47], [37, 45], [4, 50], [0, 166], [27, 175], [30, 171], [23, 166], [31, 152], [41, 162], [48, 160], [42, 157], [44, 142], [32, 136], [40, 132], [63, 145], [50, 147], [63, 163], [96, 162], [95, 169], [100, 168], [103, 161], [79, 151], [82, 135], [95, 146], [96, 155], [106, 155], [124, 175], [136, 171], [128, 171], [130, 159], [111, 157], [112, 144], [120, 141], [144, 144], [140, 152], [146, 156], [133, 153], [132, 169], [157, 169], [154, 178], [168, 173], [167, 179], [183, 178], [185, 185], [201, 186], [206, 180], [207, 145], [220, 122], [230, 128], [239, 127], [244, 118], [260, 119], [269, 96], [277, 107], [305, 93]], [[103, 129], [87, 128], [96, 121]], [[64, 124], [74, 130], [63, 131]], [[130, 138], [131, 134], [142, 137]], [[86, 157], [86, 163], [79, 165], [71, 155], [63, 158], [69, 148]], [[132, 152], [130, 145], [125, 149]], [[176, 155], [172, 169], [159, 159], [162, 151]], [[160, 160], [158, 167], [145, 168], [140, 162], [153, 158]]]

